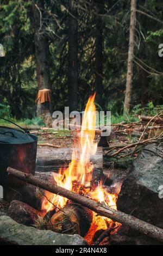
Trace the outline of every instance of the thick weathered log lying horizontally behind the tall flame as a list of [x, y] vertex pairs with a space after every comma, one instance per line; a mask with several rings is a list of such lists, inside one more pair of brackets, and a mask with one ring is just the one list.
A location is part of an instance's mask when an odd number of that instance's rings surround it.
[[[68, 164], [72, 159], [72, 148], [50, 148], [50, 147], [38, 147], [37, 148], [37, 160], [36, 171], [51, 172], [57, 171], [61, 166], [68, 167]], [[103, 169], [103, 150], [97, 149], [96, 155], [91, 159], [95, 168]]]

